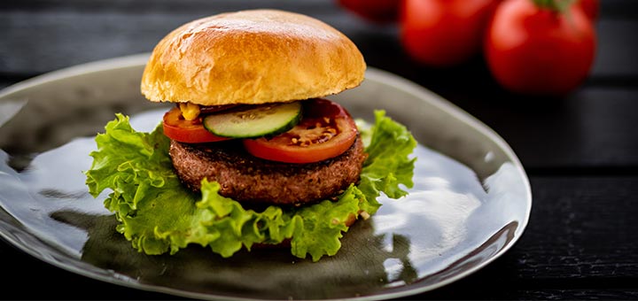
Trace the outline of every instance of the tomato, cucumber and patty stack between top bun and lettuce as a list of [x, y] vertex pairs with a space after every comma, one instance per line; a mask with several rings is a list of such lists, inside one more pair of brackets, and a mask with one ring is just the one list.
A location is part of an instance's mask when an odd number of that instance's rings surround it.
[[[306, 205], [359, 181], [367, 155], [341, 105], [308, 99], [217, 109], [203, 114], [198, 105], [179, 104], [164, 118], [165, 133], [180, 112], [188, 130], [210, 133], [203, 142], [182, 139], [188, 135], [175, 135], [179, 130], [167, 135], [175, 173], [193, 191], [206, 179], [245, 205]], [[189, 120], [193, 112], [198, 116]]]

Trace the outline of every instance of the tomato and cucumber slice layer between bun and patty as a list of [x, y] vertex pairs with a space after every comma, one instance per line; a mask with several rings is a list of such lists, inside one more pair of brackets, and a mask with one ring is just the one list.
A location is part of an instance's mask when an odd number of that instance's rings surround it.
[[180, 143], [241, 139], [257, 158], [307, 164], [335, 158], [358, 135], [350, 114], [327, 99], [214, 108], [181, 103], [164, 115], [165, 135]]

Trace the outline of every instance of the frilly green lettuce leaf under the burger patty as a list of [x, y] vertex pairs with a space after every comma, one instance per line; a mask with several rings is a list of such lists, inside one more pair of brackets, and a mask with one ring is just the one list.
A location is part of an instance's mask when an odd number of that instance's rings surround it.
[[255, 212], [219, 195], [217, 182], [202, 181], [201, 194], [183, 188], [162, 128], [137, 132], [127, 116], [116, 114], [96, 137], [86, 184], [93, 197], [111, 190], [105, 207], [120, 222], [117, 230], [140, 252], [174, 254], [197, 243], [227, 258], [242, 248], [250, 251], [255, 243], [289, 240], [294, 256], [309, 254], [316, 261], [340, 249], [346, 220], [377, 212], [381, 192], [399, 198], [407, 194], [401, 184], [413, 185], [415, 158], [408, 156], [416, 141], [405, 127], [378, 111], [375, 125], [362, 135], [370, 138], [369, 158], [358, 186], [351, 185], [337, 201], [285, 210], [268, 206]]

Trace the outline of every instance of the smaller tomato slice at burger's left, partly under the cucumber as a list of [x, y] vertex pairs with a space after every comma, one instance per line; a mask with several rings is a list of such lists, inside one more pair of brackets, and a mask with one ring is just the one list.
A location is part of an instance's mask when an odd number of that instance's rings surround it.
[[184, 120], [182, 112], [175, 107], [164, 114], [164, 135], [182, 143], [213, 143], [229, 138], [214, 135], [204, 128], [201, 120]]

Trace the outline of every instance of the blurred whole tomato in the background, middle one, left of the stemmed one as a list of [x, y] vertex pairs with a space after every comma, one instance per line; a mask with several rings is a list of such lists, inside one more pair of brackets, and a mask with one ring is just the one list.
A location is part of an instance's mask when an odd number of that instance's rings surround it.
[[404, 0], [401, 43], [428, 66], [454, 66], [477, 55], [497, 0]]

